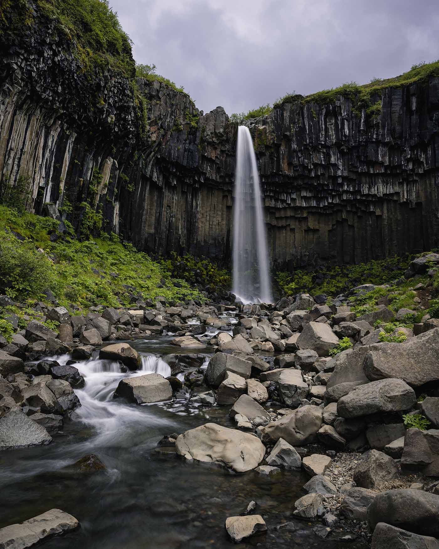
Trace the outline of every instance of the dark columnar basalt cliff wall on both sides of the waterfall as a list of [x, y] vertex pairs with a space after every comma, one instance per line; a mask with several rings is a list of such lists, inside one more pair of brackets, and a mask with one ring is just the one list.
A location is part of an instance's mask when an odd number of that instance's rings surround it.
[[[129, 45], [128, 73], [86, 66], [40, 2], [20, 6], [1, 23], [2, 186], [25, 177], [30, 211], [70, 204], [78, 234], [86, 222], [152, 254], [227, 261], [237, 122], [221, 107], [202, 113], [165, 82], [135, 79]], [[371, 99], [373, 115], [340, 94], [328, 103], [295, 97], [244, 122], [275, 265], [438, 246], [439, 77]]]

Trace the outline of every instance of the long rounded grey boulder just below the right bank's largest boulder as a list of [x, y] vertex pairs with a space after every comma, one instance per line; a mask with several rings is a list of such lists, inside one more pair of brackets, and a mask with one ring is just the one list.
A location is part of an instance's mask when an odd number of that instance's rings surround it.
[[380, 379], [359, 385], [337, 403], [340, 417], [368, 416], [376, 412], [409, 410], [416, 404], [414, 390], [402, 379]]

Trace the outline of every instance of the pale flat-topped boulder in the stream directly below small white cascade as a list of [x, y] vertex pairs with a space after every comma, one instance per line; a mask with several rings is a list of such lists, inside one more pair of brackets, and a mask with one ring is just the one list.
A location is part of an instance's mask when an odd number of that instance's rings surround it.
[[121, 379], [115, 391], [116, 396], [122, 396], [136, 404], [161, 402], [172, 399], [171, 384], [160, 374], [146, 374], [133, 378]]

